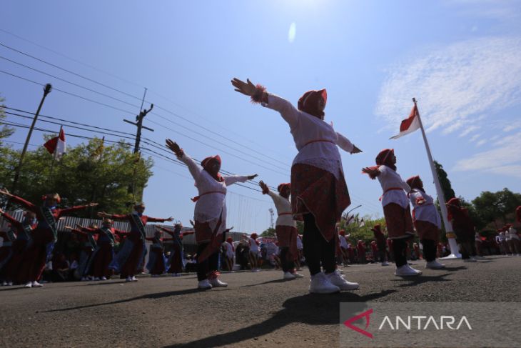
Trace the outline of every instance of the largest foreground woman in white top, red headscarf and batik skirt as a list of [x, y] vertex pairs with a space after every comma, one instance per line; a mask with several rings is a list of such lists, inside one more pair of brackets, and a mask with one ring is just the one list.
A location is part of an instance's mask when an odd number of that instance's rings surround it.
[[233, 79], [231, 83], [236, 91], [251, 96], [253, 102], [278, 111], [290, 126], [298, 149], [291, 166], [292, 213], [304, 221], [304, 256], [311, 274], [309, 291], [330, 294], [358, 289], [357, 283], [347, 282], [336, 269], [335, 228], [350, 205], [338, 146], [350, 154], [361, 151], [324, 121], [327, 92], [307, 91], [295, 108], [249, 79]]

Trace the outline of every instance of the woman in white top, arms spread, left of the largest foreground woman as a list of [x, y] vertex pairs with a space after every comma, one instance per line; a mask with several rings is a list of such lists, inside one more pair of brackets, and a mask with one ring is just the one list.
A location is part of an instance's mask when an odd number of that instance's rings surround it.
[[198, 196], [193, 211], [197, 243], [197, 279], [199, 289], [226, 287], [228, 284], [218, 279], [219, 247], [226, 231], [226, 187], [236, 182], [247, 182], [257, 177], [231, 175], [223, 177], [221, 157], [210, 156], [201, 161], [201, 166], [188, 156], [176, 142], [166, 139], [166, 146], [182, 161], [195, 180]]

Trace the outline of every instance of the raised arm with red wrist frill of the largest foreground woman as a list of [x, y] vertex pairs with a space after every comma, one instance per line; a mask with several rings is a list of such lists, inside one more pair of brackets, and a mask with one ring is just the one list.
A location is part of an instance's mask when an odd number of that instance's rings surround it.
[[239, 93], [251, 96], [251, 100], [254, 103], [262, 103], [263, 106], [278, 111], [280, 116], [288, 122], [290, 128], [295, 128], [298, 123], [299, 112], [289, 101], [266, 92], [263, 86], [260, 86], [260, 84], [254, 85], [250, 79], [246, 79], [246, 82], [244, 82], [240, 79], [233, 78], [231, 84]]

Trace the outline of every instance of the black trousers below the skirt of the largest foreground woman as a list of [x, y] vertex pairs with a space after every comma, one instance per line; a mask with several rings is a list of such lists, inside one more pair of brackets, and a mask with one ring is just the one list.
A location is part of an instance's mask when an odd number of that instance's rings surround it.
[[304, 257], [313, 276], [320, 273], [320, 264], [325, 273], [335, 272], [335, 239], [326, 242], [315, 224], [313, 214], [304, 214], [303, 235]]

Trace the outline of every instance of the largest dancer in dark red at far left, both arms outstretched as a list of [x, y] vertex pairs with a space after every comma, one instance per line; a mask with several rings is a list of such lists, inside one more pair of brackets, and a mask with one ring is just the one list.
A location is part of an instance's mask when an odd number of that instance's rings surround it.
[[42, 287], [38, 282], [41, 274], [44, 272], [45, 264], [54, 250], [54, 244], [58, 240], [58, 229], [56, 224], [60, 217], [70, 212], [86, 209], [88, 207], [95, 207], [97, 203], [71, 207], [67, 209], [59, 209], [56, 206], [61, 202], [59, 194], [46, 194], [44, 197], [44, 204], [37, 207], [31, 202], [27, 202], [21, 197], [14, 196], [7, 191], [0, 191], [11, 198], [16, 204], [20, 204], [27, 208], [27, 210], [36, 214], [38, 225], [31, 232], [32, 243], [29, 245], [26, 256], [24, 257], [24, 264], [21, 265], [21, 272], [19, 272], [19, 282], [24, 282], [25, 287]]

